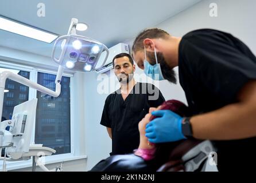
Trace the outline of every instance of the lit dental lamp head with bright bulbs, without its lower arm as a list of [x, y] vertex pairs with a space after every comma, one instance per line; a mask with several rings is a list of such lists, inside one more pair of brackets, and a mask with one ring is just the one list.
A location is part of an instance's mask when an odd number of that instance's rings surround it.
[[[109, 53], [107, 47], [94, 39], [76, 35], [76, 25], [77, 19], [72, 19], [68, 35], [63, 35], [56, 39], [52, 51], [52, 59], [60, 67], [75, 71], [88, 72], [102, 68]], [[56, 50], [60, 46], [62, 51], [59, 58], [56, 58]], [[103, 51], [106, 51], [106, 57], [100, 66], [96, 67]]]

